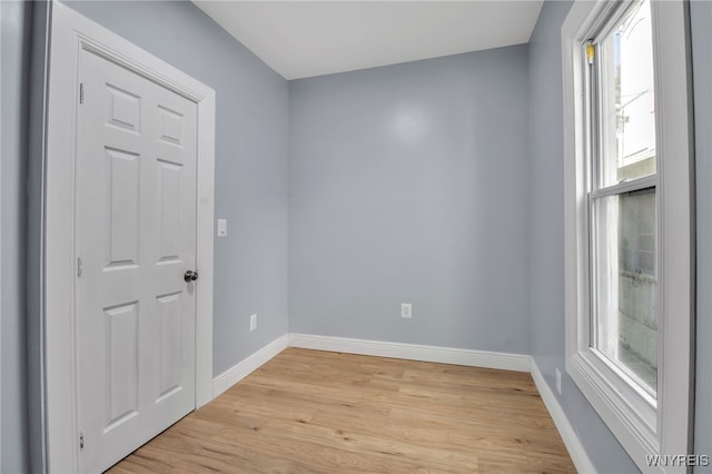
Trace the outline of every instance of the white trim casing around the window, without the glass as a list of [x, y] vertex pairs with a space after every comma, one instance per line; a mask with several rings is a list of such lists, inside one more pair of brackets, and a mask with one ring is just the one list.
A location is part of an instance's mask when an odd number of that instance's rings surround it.
[[[562, 26], [566, 371], [643, 472], [650, 455], [692, 450], [694, 368], [694, 221], [692, 100], [688, 6], [653, 1], [657, 135], [659, 350], [657, 401], [626, 382], [590, 347], [589, 209], [584, 129], [583, 47], [619, 2], [577, 1]], [[623, 7], [624, 8], [624, 7]], [[662, 65], [662, 66], [661, 66]]]

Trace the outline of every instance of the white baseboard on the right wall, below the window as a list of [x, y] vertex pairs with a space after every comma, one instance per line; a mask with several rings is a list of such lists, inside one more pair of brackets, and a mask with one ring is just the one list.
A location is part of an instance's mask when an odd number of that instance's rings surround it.
[[558, 404], [556, 395], [552, 392], [544, 378], [544, 375], [542, 375], [542, 372], [538, 369], [533, 358], [531, 373], [534, 384], [536, 385], [536, 389], [542, 396], [542, 401], [544, 402], [546, 409], [548, 409], [548, 414], [552, 416], [552, 419], [556, 425], [556, 429], [558, 429], [558, 434], [566, 445], [566, 450], [568, 450], [568, 455], [576, 466], [576, 471], [584, 474], [595, 474], [596, 470], [586, 454], [586, 450], [584, 450], [583, 444], [581, 444], [581, 440], [578, 440], [576, 432], [574, 432], [573, 426], [568, 423], [568, 418], [566, 417], [564, 409]]

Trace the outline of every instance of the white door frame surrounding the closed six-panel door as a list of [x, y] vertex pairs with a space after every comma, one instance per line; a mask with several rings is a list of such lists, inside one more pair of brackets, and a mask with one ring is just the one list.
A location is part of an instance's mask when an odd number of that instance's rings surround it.
[[52, 3], [46, 109], [40, 292], [44, 471], [78, 472], [75, 283], [75, 159], [79, 56], [99, 55], [198, 107], [196, 408], [212, 399], [215, 91], [57, 1]]

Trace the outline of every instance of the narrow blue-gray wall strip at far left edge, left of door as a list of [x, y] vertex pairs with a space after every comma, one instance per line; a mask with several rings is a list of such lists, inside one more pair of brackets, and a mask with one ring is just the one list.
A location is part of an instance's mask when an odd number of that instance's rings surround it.
[[27, 57], [30, 48], [32, 4], [2, 1], [2, 149], [0, 159], [0, 472], [27, 472], [28, 405], [24, 305], [27, 110], [29, 106]]

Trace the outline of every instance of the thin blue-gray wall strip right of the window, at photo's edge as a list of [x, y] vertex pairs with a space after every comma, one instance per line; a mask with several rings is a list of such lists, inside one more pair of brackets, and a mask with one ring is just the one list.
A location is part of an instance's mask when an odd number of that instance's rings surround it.
[[[695, 453], [712, 455], [712, 2], [692, 1], [698, 192], [698, 357]], [[696, 472], [712, 473], [712, 466]]]

